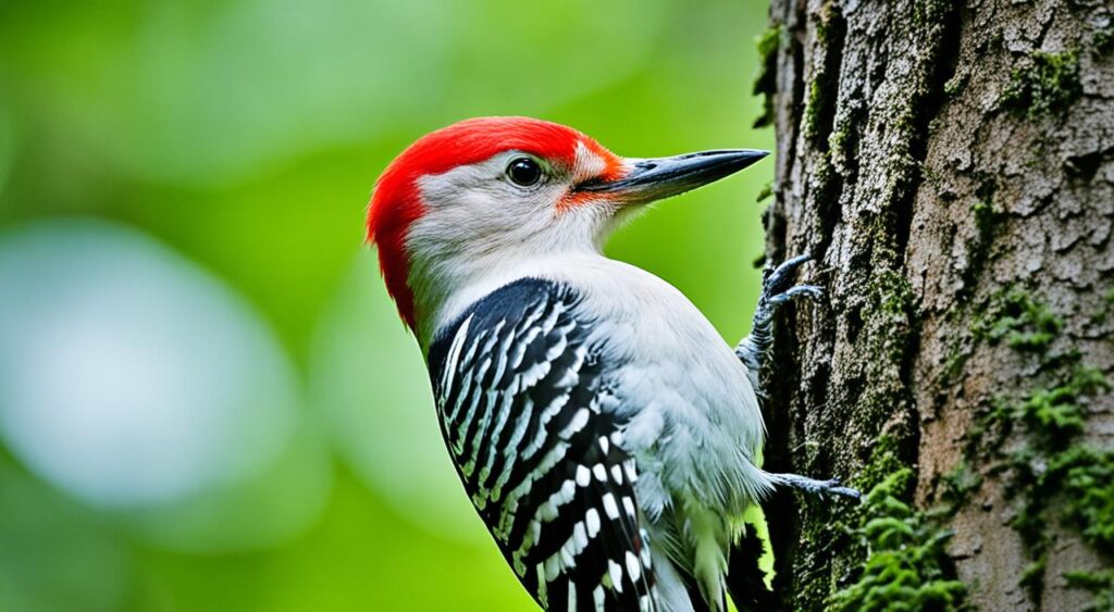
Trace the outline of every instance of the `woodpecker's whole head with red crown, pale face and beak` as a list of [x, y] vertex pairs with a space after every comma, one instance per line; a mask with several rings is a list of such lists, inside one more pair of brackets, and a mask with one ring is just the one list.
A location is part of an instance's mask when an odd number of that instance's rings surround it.
[[765, 155], [623, 158], [558, 124], [468, 119], [423, 136], [388, 166], [371, 197], [368, 238], [402, 319], [417, 330], [455, 285], [531, 258], [598, 253], [638, 205]]

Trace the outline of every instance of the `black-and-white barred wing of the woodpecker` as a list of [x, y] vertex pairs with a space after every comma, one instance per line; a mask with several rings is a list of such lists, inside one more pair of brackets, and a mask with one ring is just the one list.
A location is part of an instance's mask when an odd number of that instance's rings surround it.
[[507, 562], [547, 610], [658, 610], [634, 460], [617, 444], [576, 297], [508, 285], [430, 351], [460, 478]]

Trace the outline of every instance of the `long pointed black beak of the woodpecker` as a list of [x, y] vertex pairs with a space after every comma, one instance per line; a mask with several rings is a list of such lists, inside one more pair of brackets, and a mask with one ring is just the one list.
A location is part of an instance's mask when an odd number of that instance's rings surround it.
[[578, 185], [577, 190], [614, 194], [625, 204], [645, 204], [720, 180], [768, 155], [769, 151], [730, 149], [639, 159], [623, 178], [588, 180]]

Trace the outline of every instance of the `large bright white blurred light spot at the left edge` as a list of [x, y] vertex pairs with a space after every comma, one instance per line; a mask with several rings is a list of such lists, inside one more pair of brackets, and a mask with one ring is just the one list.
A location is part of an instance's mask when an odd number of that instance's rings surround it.
[[285, 446], [293, 371], [217, 279], [121, 227], [51, 221], [0, 236], [0, 436], [102, 507], [227, 485]]

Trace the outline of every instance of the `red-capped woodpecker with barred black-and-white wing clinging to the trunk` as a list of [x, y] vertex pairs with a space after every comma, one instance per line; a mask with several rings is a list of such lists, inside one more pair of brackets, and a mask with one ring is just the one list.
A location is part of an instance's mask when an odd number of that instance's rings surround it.
[[469, 119], [380, 176], [368, 238], [422, 349], [441, 433], [507, 563], [546, 610], [726, 610], [744, 511], [775, 486], [856, 497], [758, 465], [759, 371], [797, 257], [764, 275], [734, 349], [676, 288], [603, 255], [651, 201], [765, 157], [622, 158], [566, 126]]

